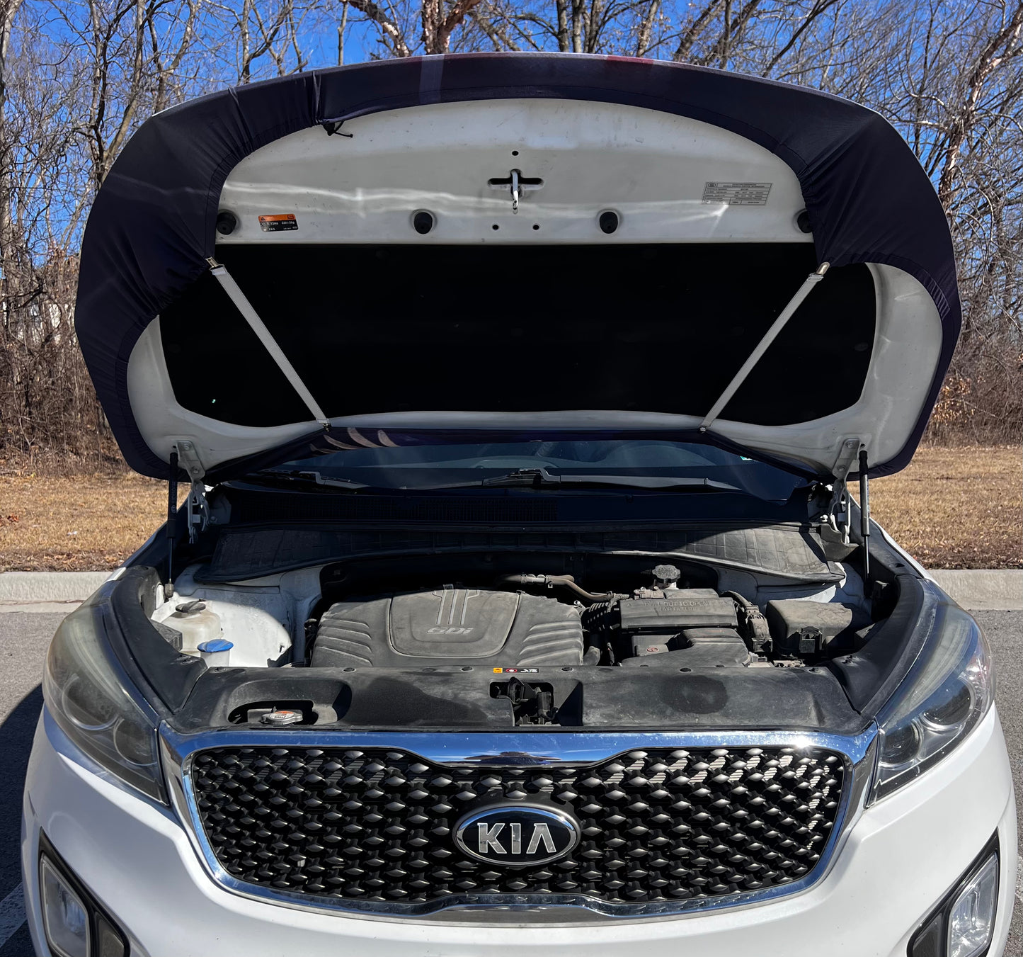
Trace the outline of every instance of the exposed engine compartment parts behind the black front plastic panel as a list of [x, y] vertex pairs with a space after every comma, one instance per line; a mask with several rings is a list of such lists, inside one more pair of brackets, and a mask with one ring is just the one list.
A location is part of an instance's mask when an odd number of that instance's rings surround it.
[[[454, 575], [447, 564], [433, 581], [429, 563], [384, 566], [380, 577], [339, 563], [292, 576], [299, 580], [279, 575], [274, 584], [233, 588], [186, 574], [179, 588], [190, 594], [175, 593], [152, 620], [177, 651], [214, 667], [458, 666], [529, 675], [581, 665], [798, 667], [861, 648], [882, 611], [851, 568], [842, 588], [806, 594], [767, 586], [751, 599], [712, 586], [706, 569], [668, 563], [610, 580], [592, 576], [592, 586], [620, 591], [589, 591], [588, 580], [563, 572], [488, 576], [466, 565]], [[291, 607], [274, 602], [287, 595]]]

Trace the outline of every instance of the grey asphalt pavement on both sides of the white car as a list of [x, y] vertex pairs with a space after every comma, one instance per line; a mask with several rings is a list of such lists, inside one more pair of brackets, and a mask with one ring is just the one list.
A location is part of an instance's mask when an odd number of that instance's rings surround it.
[[[974, 614], [994, 652], [997, 706], [1016, 793], [1023, 797], [1023, 612]], [[62, 617], [63, 612], [0, 614], [0, 768], [7, 769], [5, 786], [0, 789], [0, 957], [32, 957], [33, 953], [20, 902], [21, 789], [43, 703], [39, 680], [46, 647]], [[1023, 799], [1020, 809], [1023, 811]], [[1005, 955], [1023, 957], [1023, 878], [1016, 886], [1016, 912]]]

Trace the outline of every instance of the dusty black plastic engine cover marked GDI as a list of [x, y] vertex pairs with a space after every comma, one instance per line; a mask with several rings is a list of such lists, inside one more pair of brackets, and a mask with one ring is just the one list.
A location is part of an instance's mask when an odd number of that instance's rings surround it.
[[338, 602], [320, 618], [314, 667], [581, 664], [571, 605], [483, 589], [438, 589]]

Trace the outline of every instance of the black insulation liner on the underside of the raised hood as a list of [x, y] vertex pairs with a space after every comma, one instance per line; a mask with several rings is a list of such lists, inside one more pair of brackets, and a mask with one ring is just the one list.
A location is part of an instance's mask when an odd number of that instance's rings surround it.
[[[329, 417], [571, 409], [580, 396], [593, 408], [703, 416], [814, 266], [806, 244], [254, 245], [218, 248], [216, 258]], [[731, 278], [736, 260], [746, 264], [742, 282]], [[456, 276], [438, 281], [452, 261]], [[635, 278], [583, 278], [611, 273]], [[514, 290], [495, 296], [503, 275], [517, 277]], [[874, 324], [866, 266], [833, 270], [725, 418], [788, 425], [853, 404]], [[185, 408], [244, 426], [309, 418], [212, 275], [164, 312], [160, 330]]]

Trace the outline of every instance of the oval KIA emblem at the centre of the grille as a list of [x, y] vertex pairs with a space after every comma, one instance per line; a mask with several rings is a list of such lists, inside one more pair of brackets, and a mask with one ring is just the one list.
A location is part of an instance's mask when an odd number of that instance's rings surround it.
[[471, 858], [504, 867], [557, 861], [575, 850], [580, 836], [568, 814], [522, 804], [474, 811], [454, 828], [455, 843]]

